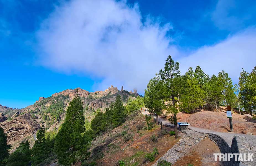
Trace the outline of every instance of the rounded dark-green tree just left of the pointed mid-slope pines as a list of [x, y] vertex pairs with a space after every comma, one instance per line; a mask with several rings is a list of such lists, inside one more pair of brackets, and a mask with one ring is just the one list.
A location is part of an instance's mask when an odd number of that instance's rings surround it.
[[95, 132], [95, 134], [100, 134], [106, 130], [104, 113], [97, 113], [95, 118], [91, 121], [91, 129]]

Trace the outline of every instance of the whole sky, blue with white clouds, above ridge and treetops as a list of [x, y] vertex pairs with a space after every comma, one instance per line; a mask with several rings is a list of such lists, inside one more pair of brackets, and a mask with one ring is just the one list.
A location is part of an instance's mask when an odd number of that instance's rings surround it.
[[81, 87], [138, 88], [168, 55], [185, 72], [255, 66], [255, 1], [0, 0], [0, 104]]

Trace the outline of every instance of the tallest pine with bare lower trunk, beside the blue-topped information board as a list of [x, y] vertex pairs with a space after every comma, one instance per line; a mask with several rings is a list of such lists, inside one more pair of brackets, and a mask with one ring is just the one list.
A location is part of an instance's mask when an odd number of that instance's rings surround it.
[[169, 55], [166, 59], [164, 70], [161, 69], [159, 71], [166, 87], [165, 99], [172, 102], [171, 105], [168, 105], [167, 110], [173, 114], [175, 138], [178, 138], [176, 115], [179, 112], [176, 103], [177, 98], [179, 98], [179, 90], [181, 89], [179, 65], [178, 62], [174, 63], [174, 60]]

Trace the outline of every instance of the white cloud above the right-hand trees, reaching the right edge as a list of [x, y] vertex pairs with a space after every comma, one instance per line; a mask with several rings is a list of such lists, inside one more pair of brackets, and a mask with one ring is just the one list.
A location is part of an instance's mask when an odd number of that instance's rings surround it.
[[256, 29], [250, 28], [229, 36], [214, 46], [204, 46], [181, 58], [180, 69], [185, 72], [188, 67], [195, 69], [199, 65], [208, 75], [218, 75], [226, 71], [233, 82], [238, 81], [242, 68], [252, 71], [256, 66]]

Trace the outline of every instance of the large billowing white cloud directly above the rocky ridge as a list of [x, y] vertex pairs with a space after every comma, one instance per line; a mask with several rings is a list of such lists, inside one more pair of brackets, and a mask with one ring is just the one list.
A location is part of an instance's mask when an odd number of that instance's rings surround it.
[[113, 84], [143, 92], [167, 55], [177, 50], [166, 37], [170, 24], [141, 19], [138, 6], [125, 1], [76, 0], [58, 7], [38, 31], [41, 62], [61, 72], [103, 78], [103, 85], [97, 84], [102, 89]]

